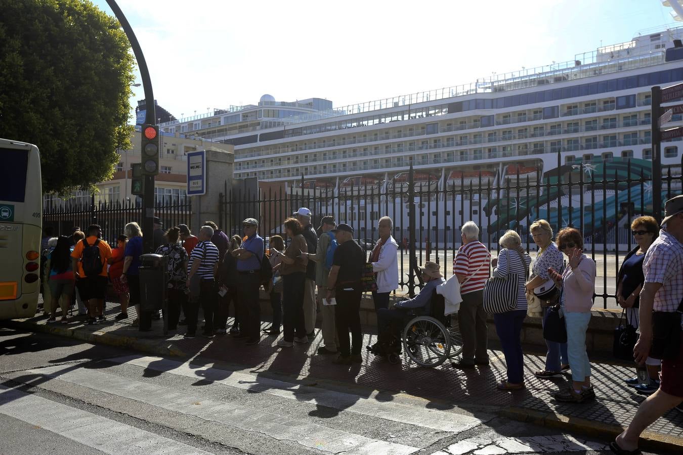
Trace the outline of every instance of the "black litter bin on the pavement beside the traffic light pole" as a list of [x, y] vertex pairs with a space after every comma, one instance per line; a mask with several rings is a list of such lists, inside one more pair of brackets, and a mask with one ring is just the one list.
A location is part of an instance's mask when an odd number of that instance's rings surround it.
[[[166, 299], [166, 256], [140, 256], [140, 330], [152, 327], [152, 312], [162, 310]], [[164, 323], [164, 327], [166, 323]]]

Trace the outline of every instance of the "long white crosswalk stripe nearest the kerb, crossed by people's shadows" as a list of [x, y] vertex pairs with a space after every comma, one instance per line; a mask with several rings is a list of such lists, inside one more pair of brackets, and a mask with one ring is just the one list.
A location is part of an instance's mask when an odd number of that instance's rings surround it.
[[[107, 362], [128, 364], [150, 368], [152, 370], [169, 372], [173, 375], [197, 378], [197, 366], [191, 366], [187, 362], [164, 359], [162, 357], [141, 357], [138, 355], [127, 355], [107, 359]], [[204, 367], [201, 367], [204, 368]], [[430, 428], [432, 430], [447, 432], [462, 432], [469, 430], [490, 420], [492, 416], [482, 416], [482, 418], [472, 417], [451, 412], [440, 411], [438, 409], [427, 409], [423, 407], [404, 405], [397, 402], [382, 402], [374, 398], [335, 392], [333, 390], [321, 390], [318, 387], [288, 383], [277, 379], [264, 377], [254, 377], [243, 372], [229, 372], [225, 377], [226, 371], [219, 368], [201, 369], [201, 377], [208, 381], [214, 381], [230, 387], [252, 392], [265, 392], [267, 394], [289, 398], [292, 400], [311, 402], [312, 404], [352, 411], [369, 417], [379, 417], [393, 422], [401, 422]], [[255, 382], [254, 382], [255, 381]]]

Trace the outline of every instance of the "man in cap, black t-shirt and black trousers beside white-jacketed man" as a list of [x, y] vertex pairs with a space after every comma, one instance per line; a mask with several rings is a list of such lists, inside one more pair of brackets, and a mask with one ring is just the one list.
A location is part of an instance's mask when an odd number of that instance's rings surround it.
[[[335, 364], [348, 365], [362, 362], [361, 345], [361, 274], [365, 263], [365, 251], [353, 241], [353, 228], [348, 224], [339, 224], [332, 229], [337, 238], [337, 249], [332, 260], [332, 268], [327, 279], [327, 298], [335, 296], [335, 325], [339, 338], [339, 357]], [[348, 337], [351, 331], [353, 349], [350, 349]]]

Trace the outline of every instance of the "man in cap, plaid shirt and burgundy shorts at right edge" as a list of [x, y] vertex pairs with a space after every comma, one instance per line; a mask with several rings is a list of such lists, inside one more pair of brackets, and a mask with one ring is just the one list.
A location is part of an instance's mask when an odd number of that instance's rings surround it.
[[[652, 311], [676, 312], [683, 299], [683, 194], [669, 199], [659, 238], [645, 253], [645, 285], [640, 294], [641, 335], [633, 349], [645, 363], [652, 347]], [[638, 454], [641, 432], [672, 407], [683, 402], [683, 336], [678, 359], [663, 359], [659, 390], [641, 404], [631, 424], [610, 444], [617, 454]]]

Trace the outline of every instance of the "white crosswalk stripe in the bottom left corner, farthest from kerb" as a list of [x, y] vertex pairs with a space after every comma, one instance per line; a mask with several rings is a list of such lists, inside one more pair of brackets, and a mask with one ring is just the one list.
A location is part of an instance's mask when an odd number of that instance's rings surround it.
[[0, 413], [106, 454], [210, 455], [197, 447], [4, 385], [0, 385]]

